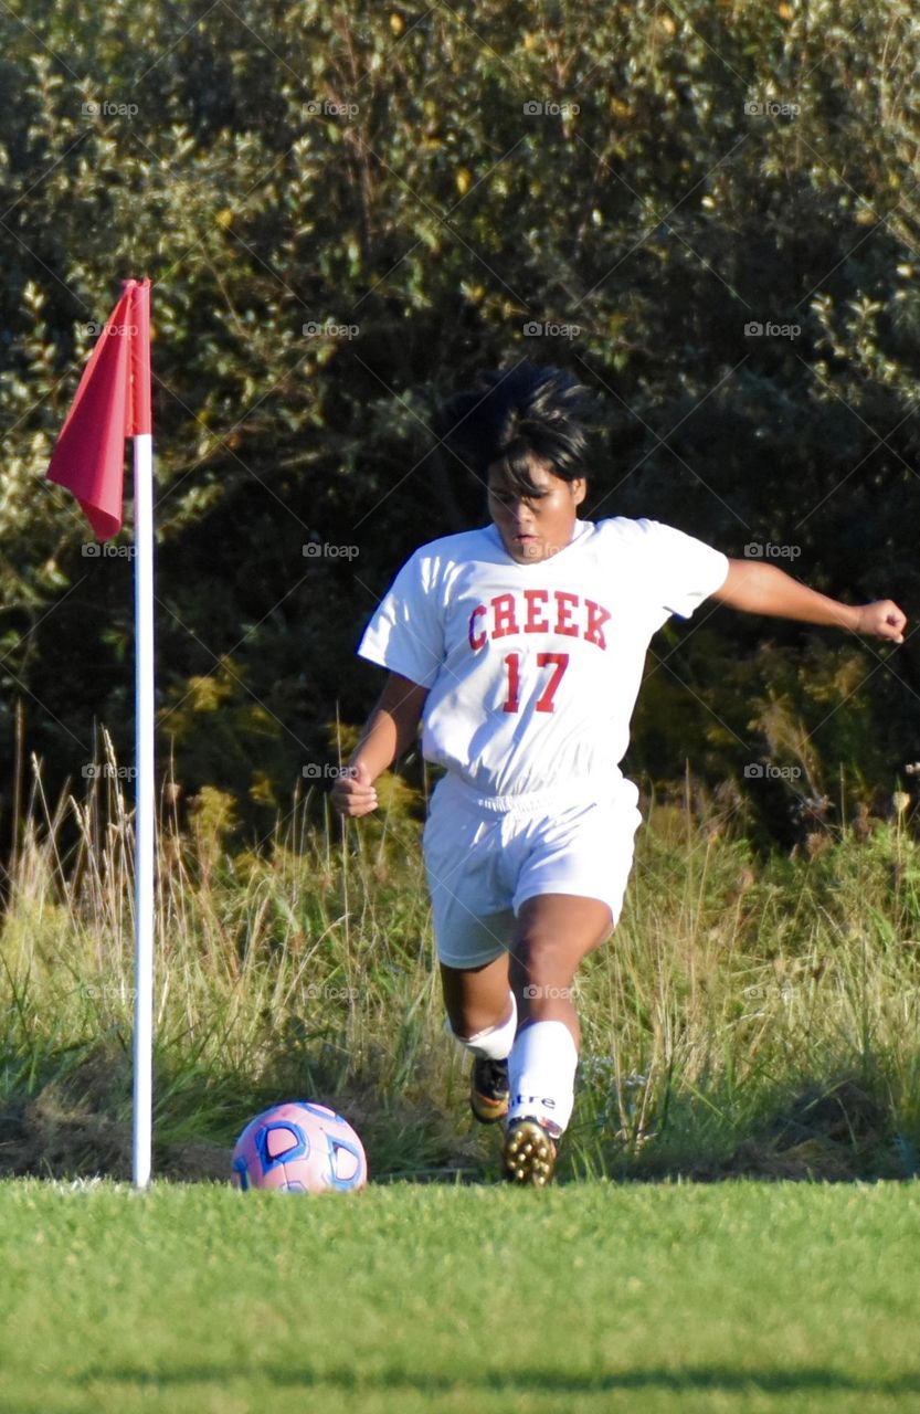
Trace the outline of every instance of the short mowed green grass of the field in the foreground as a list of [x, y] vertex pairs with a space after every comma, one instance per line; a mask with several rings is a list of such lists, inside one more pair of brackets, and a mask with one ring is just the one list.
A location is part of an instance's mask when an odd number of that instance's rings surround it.
[[916, 1182], [0, 1185], [4, 1414], [920, 1407]]

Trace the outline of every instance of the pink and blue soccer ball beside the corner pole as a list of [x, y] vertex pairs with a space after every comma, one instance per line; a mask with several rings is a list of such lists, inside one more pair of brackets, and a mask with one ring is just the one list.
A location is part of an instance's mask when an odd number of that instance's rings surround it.
[[246, 1126], [233, 1150], [233, 1188], [284, 1193], [352, 1193], [367, 1182], [365, 1147], [335, 1110], [307, 1100], [273, 1104]]

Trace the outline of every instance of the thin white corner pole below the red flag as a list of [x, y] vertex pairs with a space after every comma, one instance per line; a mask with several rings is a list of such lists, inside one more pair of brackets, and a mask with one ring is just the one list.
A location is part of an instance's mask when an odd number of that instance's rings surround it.
[[150, 1184], [154, 974], [154, 600], [153, 436], [134, 444], [134, 1137], [136, 1188]]

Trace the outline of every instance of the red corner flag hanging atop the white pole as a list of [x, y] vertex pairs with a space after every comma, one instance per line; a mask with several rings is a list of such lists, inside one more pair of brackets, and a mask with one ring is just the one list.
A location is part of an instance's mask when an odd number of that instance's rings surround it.
[[150, 431], [150, 280], [124, 280], [48, 467], [48, 479], [73, 492], [98, 540], [122, 529], [124, 438]]

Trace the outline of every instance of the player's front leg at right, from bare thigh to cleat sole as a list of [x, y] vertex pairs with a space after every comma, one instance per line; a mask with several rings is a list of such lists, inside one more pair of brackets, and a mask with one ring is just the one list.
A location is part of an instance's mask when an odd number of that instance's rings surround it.
[[506, 1172], [517, 1182], [551, 1178], [575, 1097], [581, 1028], [572, 983], [612, 928], [611, 906], [596, 898], [543, 894], [520, 908], [510, 980], [521, 1019], [509, 1063], [505, 1145]]

